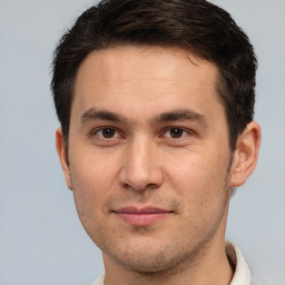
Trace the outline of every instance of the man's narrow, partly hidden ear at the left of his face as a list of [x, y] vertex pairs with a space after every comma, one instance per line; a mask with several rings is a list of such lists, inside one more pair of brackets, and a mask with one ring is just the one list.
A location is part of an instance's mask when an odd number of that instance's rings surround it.
[[63, 134], [61, 128], [58, 128], [56, 130], [56, 146], [57, 146], [57, 151], [58, 151], [58, 157], [61, 164], [61, 168], [63, 170], [63, 175], [66, 178], [67, 187], [71, 190], [72, 187], [71, 187], [70, 169], [69, 169], [68, 156], [65, 147]]

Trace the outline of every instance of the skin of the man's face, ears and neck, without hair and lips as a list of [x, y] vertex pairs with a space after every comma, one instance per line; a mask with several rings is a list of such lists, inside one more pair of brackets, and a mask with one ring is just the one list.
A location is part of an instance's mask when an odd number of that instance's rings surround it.
[[[230, 283], [229, 197], [255, 167], [261, 130], [248, 124], [229, 149], [217, 77], [209, 61], [161, 47], [94, 51], [79, 67], [68, 159], [60, 128], [57, 149], [106, 285]], [[118, 214], [149, 206], [161, 218]]]

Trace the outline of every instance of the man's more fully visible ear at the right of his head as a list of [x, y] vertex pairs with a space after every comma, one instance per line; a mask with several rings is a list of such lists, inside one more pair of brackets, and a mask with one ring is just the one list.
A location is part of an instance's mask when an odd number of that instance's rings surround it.
[[261, 126], [250, 121], [237, 138], [232, 164], [230, 188], [243, 185], [253, 173], [259, 153]]

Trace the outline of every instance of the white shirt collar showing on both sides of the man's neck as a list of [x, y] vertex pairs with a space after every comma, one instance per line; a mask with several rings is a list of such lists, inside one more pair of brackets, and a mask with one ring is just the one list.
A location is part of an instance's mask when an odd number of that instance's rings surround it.
[[[235, 274], [229, 285], [250, 285], [250, 272], [240, 250], [230, 243], [226, 244], [227, 257], [235, 266]], [[101, 274], [91, 285], [104, 285], [105, 274]]]

